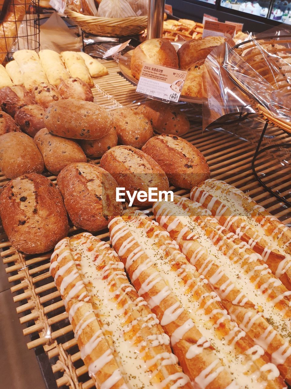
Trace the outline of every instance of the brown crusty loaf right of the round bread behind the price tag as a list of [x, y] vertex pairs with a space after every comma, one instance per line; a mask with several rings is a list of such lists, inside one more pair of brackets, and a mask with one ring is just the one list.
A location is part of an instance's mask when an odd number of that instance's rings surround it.
[[192, 64], [204, 61], [215, 46], [219, 46], [224, 42], [224, 37], [188, 40], [177, 51], [180, 68], [188, 69]]

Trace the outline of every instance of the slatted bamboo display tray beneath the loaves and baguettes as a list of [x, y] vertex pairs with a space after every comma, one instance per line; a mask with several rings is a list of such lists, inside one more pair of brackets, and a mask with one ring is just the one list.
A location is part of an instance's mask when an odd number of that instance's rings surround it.
[[[114, 109], [122, 105], [135, 106], [144, 97], [135, 93], [135, 87], [126, 81], [119, 73], [116, 63], [104, 61], [109, 68], [109, 74], [95, 79], [93, 89], [95, 102]], [[206, 157], [210, 165], [211, 177], [225, 180], [248, 193], [258, 203], [284, 221], [291, 223], [291, 212], [286, 206], [278, 203], [274, 197], [266, 193], [253, 177], [251, 159], [262, 131], [263, 123], [254, 121], [253, 117], [241, 122], [221, 121], [213, 128], [204, 132], [201, 125], [201, 108], [181, 105], [187, 111], [191, 122], [191, 131], [184, 138], [194, 144]], [[291, 142], [291, 138], [278, 128], [269, 126], [265, 144], [276, 142]], [[258, 161], [259, 169], [266, 175], [269, 182], [281, 193], [289, 193], [291, 169], [284, 163], [286, 156], [282, 154], [264, 154]], [[285, 158], [285, 159], [284, 159]], [[89, 160], [99, 164], [100, 159]], [[276, 170], [276, 166], [281, 166]], [[56, 177], [49, 172], [44, 173], [53, 182]], [[280, 174], [280, 175], [279, 175]], [[0, 187], [7, 178], [0, 173]], [[189, 196], [184, 189], [171, 187], [178, 195]], [[136, 207], [134, 207], [136, 209]], [[81, 232], [71, 226], [70, 235]], [[109, 240], [108, 230], [96, 235], [102, 240]], [[23, 333], [27, 336], [29, 349], [43, 347], [52, 366], [58, 387], [69, 386], [71, 389], [87, 389], [94, 386], [88, 376], [87, 368], [80, 358], [80, 350], [74, 339], [73, 329], [68, 320], [59, 292], [54, 286], [54, 280], [49, 275], [50, 256], [52, 252], [43, 255], [24, 255], [12, 247], [2, 226], [0, 226], [0, 255], [6, 264], [9, 282], [12, 282], [11, 292], [14, 295], [16, 310], [21, 324], [25, 325]]]

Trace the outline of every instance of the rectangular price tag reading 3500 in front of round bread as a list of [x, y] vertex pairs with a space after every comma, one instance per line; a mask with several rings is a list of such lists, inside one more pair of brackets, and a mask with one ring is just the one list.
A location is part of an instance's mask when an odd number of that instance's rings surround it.
[[144, 63], [137, 84], [137, 93], [164, 102], [178, 103], [187, 70]]

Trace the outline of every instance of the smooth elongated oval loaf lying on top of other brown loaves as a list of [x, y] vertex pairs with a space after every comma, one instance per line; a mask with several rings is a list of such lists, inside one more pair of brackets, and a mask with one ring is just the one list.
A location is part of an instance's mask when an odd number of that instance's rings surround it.
[[112, 128], [110, 113], [97, 104], [77, 99], [59, 100], [45, 112], [45, 126], [54, 135], [99, 139]]

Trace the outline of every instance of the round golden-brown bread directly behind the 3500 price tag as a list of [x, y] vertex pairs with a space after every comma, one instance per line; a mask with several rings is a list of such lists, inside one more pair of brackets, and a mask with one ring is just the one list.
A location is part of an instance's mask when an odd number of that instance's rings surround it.
[[178, 56], [175, 47], [168, 40], [148, 39], [135, 47], [132, 53], [130, 69], [137, 80], [139, 80], [145, 62], [177, 68]]

